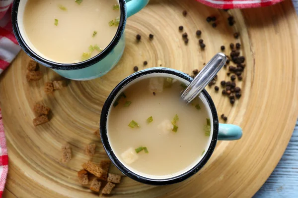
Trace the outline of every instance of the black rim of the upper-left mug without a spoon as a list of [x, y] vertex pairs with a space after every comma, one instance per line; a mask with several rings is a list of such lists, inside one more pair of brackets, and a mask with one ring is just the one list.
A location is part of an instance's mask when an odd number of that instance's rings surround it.
[[122, 34], [124, 33], [124, 28], [126, 24], [126, 18], [127, 18], [127, 11], [126, 11], [126, 1], [125, 0], [118, 0], [119, 5], [120, 5], [120, 23], [118, 25], [117, 32], [110, 42], [110, 44], [103, 49], [99, 54], [96, 56], [82, 61], [78, 63], [57, 63], [51, 60], [47, 60], [46, 58], [41, 57], [38, 55], [34, 50], [32, 50], [24, 41], [23, 37], [21, 36], [20, 29], [18, 26], [18, 8], [19, 8], [19, 3], [21, 0], [14, 0], [12, 4], [12, 12], [11, 12], [11, 21], [12, 21], [12, 30], [14, 33], [14, 36], [19, 43], [20, 47], [31, 57], [33, 58], [36, 62], [52, 68], [52, 69], [57, 69], [57, 70], [77, 70], [77, 69], [83, 69], [89, 66], [94, 65], [95, 63], [99, 62], [102, 60], [104, 57], [106, 57], [119, 43]]

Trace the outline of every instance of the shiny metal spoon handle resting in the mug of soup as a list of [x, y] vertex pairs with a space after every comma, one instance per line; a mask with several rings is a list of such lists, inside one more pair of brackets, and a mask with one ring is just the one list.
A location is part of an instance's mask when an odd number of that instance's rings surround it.
[[202, 90], [212, 81], [226, 62], [226, 56], [223, 53], [217, 53], [200, 71], [200, 73], [189, 84], [181, 95], [186, 103], [195, 99]]

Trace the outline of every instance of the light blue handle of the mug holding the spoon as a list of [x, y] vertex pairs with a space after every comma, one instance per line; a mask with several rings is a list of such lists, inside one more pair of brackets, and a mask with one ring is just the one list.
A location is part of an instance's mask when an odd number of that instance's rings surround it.
[[218, 140], [239, 140], [241, 137], [241, 127], [233, 124], [219, 124]]

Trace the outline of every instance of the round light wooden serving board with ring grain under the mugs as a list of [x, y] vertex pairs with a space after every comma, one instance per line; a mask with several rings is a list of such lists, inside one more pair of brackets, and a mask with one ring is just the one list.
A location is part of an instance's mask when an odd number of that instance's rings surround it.
[[[182, 11], [187, 10], [186, 17]], [[228, 13], [236, 24], [227, 24]], [[213, 28], [206, 17], [215, 15]], [[189, 44], [182, 41], [178, 26], [183, 25]], [[196, 30], [202, 30], [206, 49], [198, 46]], [[232, 34], [240, 32], [240, 38]], [[154, 39], [149, 41], [149, 33]], [[136, 42], [136, 35], [142, 40]], [[243, 128], [243, 137], [234, 142], [218, 142], [206, 166], [187, 181], [170, 186], [148, 186], [123, 177], [113, 190], [118, 198], [248, 198], [269, 177], [291, 138], [298, 116], [298, 20], [292, 2], [286, 0], [270, 7], [230, 10], [207, 7], [195, 0], [151, 0], [140, 13], [129, 18], [127, 46], [118, 65], [107, 75], [85, 82], [69, 82], [53, 95], [43, 91], [45, 82], [58, 75], [41, 67], [42, 80], [25, 79], [29, 57], [20, 52], [0, 78], [0, 104], [7, 139], [9, 171], [4, 198], [95, 198], [82, 188], [76, 171], [88, 160], [84, 148], [97, 143], [93, 161], [106, 159], [100, 140], [93, 135], [98, 128], [102, 105], [111, 90], [133, 67], [161, 65], [186, 73], [201, 69], [220, 46], [240, 42], [246, 57], [243, 81], [237, 82], [242, 97], [231, 106], [221, 91], [207, 88], [219, 115], [228, 123]], [[149, 62], [143, 67], [143, 61]], [[228, 80], [226, 70], [218, 76]], [[222, 88], [221, 88], [222, 90]], [[49, 123], [34, 127], [33, 105], [42, 101], [52, 108]], [[61, 146], [69, 142], [73, 159], [59, 163]], [[179, 156], [177, 156], [179, 157]], [[158, 163], [158, 162], [157, 162]], [[112, 172], [119, 172], [114, 166]]]

